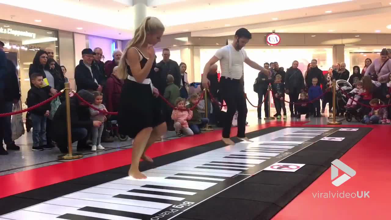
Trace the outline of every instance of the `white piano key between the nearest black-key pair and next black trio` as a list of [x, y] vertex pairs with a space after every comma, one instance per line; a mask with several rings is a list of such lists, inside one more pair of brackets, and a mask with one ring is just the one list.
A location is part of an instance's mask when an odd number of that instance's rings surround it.
[[111, 195], [100, 195], [100, 194], [81, 193], [81, 192], [72, 193], [64, 197], [85, 199], [85, 200], [91, 200], [97, 202], [108, 202], [108, 203], [115, 203], [115, 204], [129, 205], [129, 206], [149, 207], [154, 209], [165, 209], [172, 205], [172, 204], [161, 203], [161, 202], [149, 202], [149, 201], [142, 201], [142, 200], [115, 198]]

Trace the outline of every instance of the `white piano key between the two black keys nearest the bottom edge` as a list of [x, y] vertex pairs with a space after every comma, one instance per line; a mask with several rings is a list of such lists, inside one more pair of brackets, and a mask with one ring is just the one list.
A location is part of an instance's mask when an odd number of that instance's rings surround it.
[[[102, 213], [94, 213], [89, 211], [80, 211], [77, 210], [79, 208], [76, 207], [67, 207], [67, 206], [56, 206], [51, 204], [39, 204], [36, 206], [29, 207], [25, 210], [27, 211], [34, 211], [38, 213], [50, 213], [55, 215], [65, 215], [65, 214], [74, 214], [74, 215], [81, 215], [81, 216], [89, 216], [89, 217], [95, 217], [95, 218], [102, 218], [102, 219], [109, 219], [109, 220], [140, 220], [138, 218], [128, 218], [118, 215], [108, 215], [108, 214], [102, 214]], [[58, 218], [61, 219], [61, 218]]]

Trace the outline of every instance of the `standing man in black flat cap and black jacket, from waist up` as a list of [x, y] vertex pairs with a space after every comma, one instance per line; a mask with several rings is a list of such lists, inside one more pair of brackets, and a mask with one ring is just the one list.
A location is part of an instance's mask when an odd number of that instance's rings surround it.
[[84, 89], [90, 92], [102, 92], [99, 70], [95, 65], [92, 65], [95, 53], [90, 48], [86, 48], [81, 52], [81, 55], [83, 59], [75, 68], [76, 91]]

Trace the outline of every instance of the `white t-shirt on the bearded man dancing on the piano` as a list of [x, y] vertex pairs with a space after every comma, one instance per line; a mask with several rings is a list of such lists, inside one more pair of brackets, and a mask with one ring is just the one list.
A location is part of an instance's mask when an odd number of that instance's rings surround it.
[[248, 58], [243, 48], [237, 51], [232, 44], [229, 44], [217, 50], [215, 57], [220, 60], [221, 76], [242, 78], [243, 63]]

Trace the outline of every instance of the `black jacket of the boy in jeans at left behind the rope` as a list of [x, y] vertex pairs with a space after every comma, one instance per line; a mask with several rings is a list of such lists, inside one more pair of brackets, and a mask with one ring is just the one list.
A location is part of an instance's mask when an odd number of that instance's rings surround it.
[[[27, 106], [31, 107], [37, 105], [48, 98], [50, 98], [50, 96], [46, 92], [45, 88], [37, 88], [34, 86], [30, 88], [29, 92], [27, 92]], [[50, 102], [45, 105], [39, 106], [38, 108], [31, 110], [30, 112], [36, 115], [44, 115], [47, 110], [50, 111]]]

